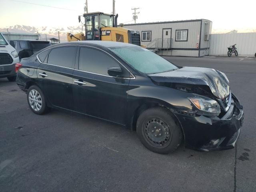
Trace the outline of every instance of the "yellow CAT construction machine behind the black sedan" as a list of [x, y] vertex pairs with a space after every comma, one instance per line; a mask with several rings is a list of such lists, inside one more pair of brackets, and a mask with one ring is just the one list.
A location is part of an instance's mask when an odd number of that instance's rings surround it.
[[[68, 41], [102, 40], [131, 43], [140, 46], [140, 32], [117, 27], [118, 14], [110, 15], [102, 12], [83, 14], [82, 32], [67, 34]], [[81, 16], [78, 16], [81, 22]], [[85, 34], [83, 28], [85, 27]]]

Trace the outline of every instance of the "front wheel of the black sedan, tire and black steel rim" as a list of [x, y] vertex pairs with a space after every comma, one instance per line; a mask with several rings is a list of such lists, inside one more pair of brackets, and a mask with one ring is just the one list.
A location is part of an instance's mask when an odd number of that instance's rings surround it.
[[183, 134], [171, 112], [165, 108], [150, 108], [142, 112], [136, 130], [142, 144], [149, 150], [168, 154], [178, 148]]

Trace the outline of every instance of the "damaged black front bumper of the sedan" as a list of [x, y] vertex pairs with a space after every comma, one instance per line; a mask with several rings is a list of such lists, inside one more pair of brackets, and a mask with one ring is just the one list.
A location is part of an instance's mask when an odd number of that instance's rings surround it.
[[175, 114], [184, 131], [185, 145], [200, 151], [234, 148], [244, 120], [243, 107], [232, 94], [232, 103], [222, 118]]

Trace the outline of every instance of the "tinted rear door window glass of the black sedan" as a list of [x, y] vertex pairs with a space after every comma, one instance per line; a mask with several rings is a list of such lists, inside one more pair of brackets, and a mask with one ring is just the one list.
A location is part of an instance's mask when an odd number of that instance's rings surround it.
[[76, 60], [76, 46], [53, 48], [48, 55], [48, 64], [74, 68]]

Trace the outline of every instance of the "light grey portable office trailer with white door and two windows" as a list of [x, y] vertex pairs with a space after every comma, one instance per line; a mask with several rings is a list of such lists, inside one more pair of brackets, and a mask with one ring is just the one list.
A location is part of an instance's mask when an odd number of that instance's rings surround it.
[[212, 22], [206, 19], [120, 25], [140, 32], [141, 45], [161, 55], [209, 55]]

